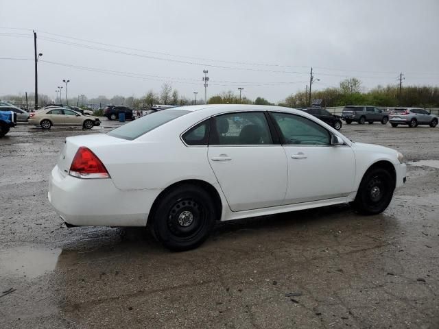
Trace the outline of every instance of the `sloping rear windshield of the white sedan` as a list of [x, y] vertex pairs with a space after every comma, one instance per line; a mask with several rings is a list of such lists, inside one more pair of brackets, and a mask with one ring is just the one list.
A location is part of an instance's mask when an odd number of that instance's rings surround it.
[[150, 132], [151, 130], [159, 127], [171, 120], [174, 120], [182, 115], [189, 113], [189, 111], [184, 110], [163, 110], [155, 113], [148, 114], [147, 116], [134, 120], [126, 125], [122, 125], [111, 132], [108, 135], [128, 139], [132, 141], [137, 137]]

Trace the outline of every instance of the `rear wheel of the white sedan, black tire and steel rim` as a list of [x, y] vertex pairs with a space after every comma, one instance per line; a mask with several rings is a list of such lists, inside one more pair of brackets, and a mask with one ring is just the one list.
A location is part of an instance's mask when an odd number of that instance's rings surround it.
[[154, 212], [154, 236], [176, 252], [201, 245], [211, 234], [216, 219], [215, 204], [198, 186], [174, 188], [159, 202]]

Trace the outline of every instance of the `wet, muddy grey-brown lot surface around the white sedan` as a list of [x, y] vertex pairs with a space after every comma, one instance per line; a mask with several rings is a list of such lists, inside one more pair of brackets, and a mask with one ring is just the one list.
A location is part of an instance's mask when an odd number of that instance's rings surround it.
[[0, 140], [0, 328], [439, 328], [439, 128], [342, 132], [433, 161], [407, 165], [381, 215], [219, 223], [171, 253], [140, 228], [66, 228], [47, 179], [64, 138], [84, 131], [19, 125]]

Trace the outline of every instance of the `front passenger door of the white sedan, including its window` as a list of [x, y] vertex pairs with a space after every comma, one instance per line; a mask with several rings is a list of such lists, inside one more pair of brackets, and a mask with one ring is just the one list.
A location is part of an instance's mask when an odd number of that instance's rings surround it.
[[284, 204], [345, 197], [353, 191], [355, 156], [348, 145], [331, 145], [331, 133], [296, 114], [272, 112], [288, 161]]

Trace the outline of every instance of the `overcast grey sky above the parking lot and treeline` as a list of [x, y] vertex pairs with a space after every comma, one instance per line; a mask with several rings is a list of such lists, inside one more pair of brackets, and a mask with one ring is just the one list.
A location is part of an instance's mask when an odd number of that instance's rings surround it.
[[72, 97], [140, 97], [170, 82], [200, 99], [203, 69], [208, 97], [243, 87], [275, 102], [305, 90], [311, 66], [313, 89], [397, 84], [400, 72], [405, 85], [439, 84], [438, 0], [0, 0], [0, 27], [0, 95], [34, 90], [32, 60], [4, 59], [33, 58], [32, 29], [38, 91], [52, 97], [69, 79]]

